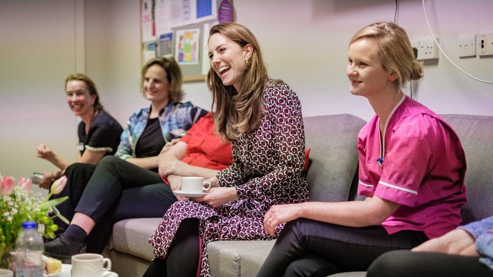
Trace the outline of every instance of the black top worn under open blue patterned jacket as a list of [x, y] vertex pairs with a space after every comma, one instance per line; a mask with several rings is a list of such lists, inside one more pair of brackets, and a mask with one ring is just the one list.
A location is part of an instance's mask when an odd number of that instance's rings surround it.
[[142, 135], [135, 145], [135, 157], [146, 158], [159, 155], [166, 141], [158, 118], [148, 119]]

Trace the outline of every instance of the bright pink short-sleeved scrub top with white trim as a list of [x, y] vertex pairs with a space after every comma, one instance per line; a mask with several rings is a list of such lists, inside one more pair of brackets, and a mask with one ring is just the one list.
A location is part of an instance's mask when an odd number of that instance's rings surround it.
[[408, 96], [390, 112], [382, 146], [379, 124], [375, 115], [358, 135], [358, 194], [401, 204], [382, 223], [387, 233], [423, 231], [431, 239], [457, 228], [466, 158], [452, 127]]

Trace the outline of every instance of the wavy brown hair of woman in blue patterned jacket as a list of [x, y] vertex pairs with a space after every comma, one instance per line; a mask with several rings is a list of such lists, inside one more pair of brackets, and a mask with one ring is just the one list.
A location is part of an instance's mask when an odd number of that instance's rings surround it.
[[141, 78], [140, 78], [140, 92], [142, 93], [142, 95], [145, 96], [142, 87], [144, 83], [145, 73], [147, 72], [147, 69], [149, 69], [154, 65], [160, 66], [166, 72], [168, 83], [171, 86], [170, 93], [168, 96], [170, 102], [177, 103], [181, 101], [184, 96], [183, 90], [181, 90], [181, 85], [183, 84], [183, 80], [181, 78], [180, 67], [178, 66], [178, 64], [176, 64], [173, 58], [168, 59], [164, 57], [158, 57], [151, 59], [147, 63], [145, 63], [145, 65], [142, 67]]

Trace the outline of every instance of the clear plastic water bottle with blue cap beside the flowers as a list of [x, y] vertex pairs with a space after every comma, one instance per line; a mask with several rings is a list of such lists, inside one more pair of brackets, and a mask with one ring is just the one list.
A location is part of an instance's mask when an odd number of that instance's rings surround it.
[[16, 277], [43, 277], [43, 239], [33, 221], [22, 223], [22, 232], [16, 242]]

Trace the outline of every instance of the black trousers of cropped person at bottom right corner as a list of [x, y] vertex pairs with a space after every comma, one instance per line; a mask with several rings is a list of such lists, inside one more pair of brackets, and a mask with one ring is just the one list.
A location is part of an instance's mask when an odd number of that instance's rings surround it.
[[378, 257], [368, 268], [369, 277], [493, 276], [478, 257], [398, 250]]

